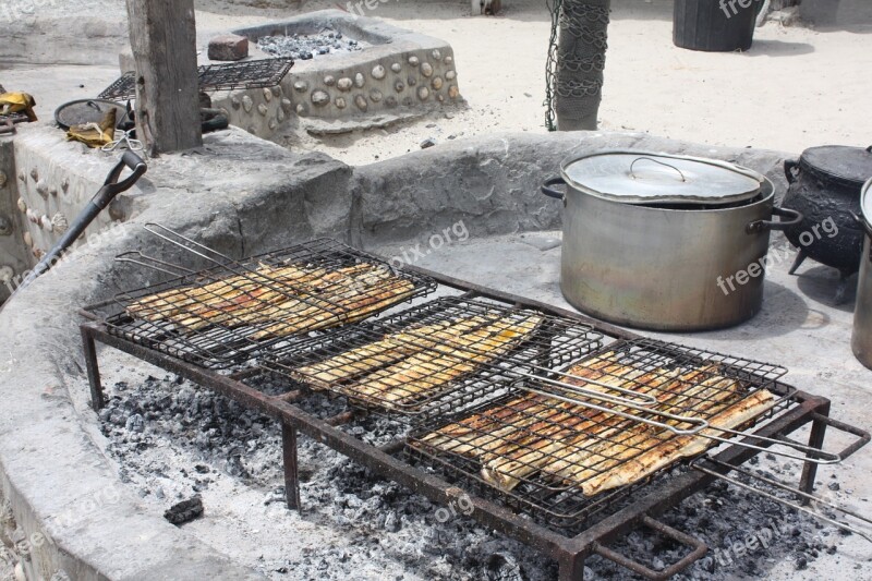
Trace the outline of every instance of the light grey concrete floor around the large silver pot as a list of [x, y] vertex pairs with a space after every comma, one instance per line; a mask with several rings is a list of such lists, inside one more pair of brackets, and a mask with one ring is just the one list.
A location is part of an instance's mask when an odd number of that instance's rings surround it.
[[[560, 293], [560, 232], [537, 232], [474, 239], [425, 251], [414, 264], [453, 277], [512, 292], [555, 306], [571, 308]], [[786, 241], [778, 235], [772, 247], [782, 253]], [[373, 249], [385, 256], [414, 255], [411, 249]], [[838, 275], [835, 270], [807, 262], [799, 276], [787, 274], [791, 255], [774, 264], [767, 273], [762, 312], [750, 322], [727, 330], [695, 334], [651, 334], [664, 340], [689, 344], [784, 365], [785, 380], [795, 387], [833, 400], [832, 415], [864, 429], [872, 428], [872, 371], [852, 355], [850, 336], [853, 293], [846, 304], [832, 304]], [[851, 283], [855, 279], [851, 279]], [[838, 451], [850, 438], [831, 431], [826, 449]], [[844, 483], [833, 493], [821, 486], [832, 471]], [[819, 471], [816, 493], [831, 501], [872, 515], [872, 447], [867, 447], [834, 468]], [[791, 483], [794, 484], [794, 483]], [[784, 540], [782, 542], [789, 542]], [[770, 579], [872, 579], [872, 547], [857, 535], [845, 538], [836, 555], [823, 555], [808, 570], [792, 564], [776, 565]]]

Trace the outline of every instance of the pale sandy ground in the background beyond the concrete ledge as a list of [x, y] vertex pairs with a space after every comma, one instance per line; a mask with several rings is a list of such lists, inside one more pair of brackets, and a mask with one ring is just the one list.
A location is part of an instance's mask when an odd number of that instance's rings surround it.
[[[327, 0], [302, 8], [287, 0], [196, 4], [201, 41], [213, 32], [338, 5]], [[872, 142], [872, 2], [843, 0], [839, 24], [828, 29], [770, 22], [756, 29], [754, 45], [744, 53], [675, 47], [671, 5], [670, 0], [613, 0], [603, 129], [797, 153], [814, 145]], [[106, 2], [102, 11], [123, 15], [123, 2]], [[550, 24], [544, 2], [507, 0], [497, 17], [471, 17], [467, 2], [427, 2], [423, 8], [396, 0], [379, 3], [367, 15], [448, 40], [468, 108], [446, 108], [434, 118], [389, 130], [327, 140], [305, 136], [294, 148], [362, 165], [416, 149], [427, 137], [439, 143], [546, 131]], [[117, 76], [111, 66], [3, 70], [0, 63], [0, 83], [35, 94], [44, 119], [50, 119], [57, 105], [94, 96]]]

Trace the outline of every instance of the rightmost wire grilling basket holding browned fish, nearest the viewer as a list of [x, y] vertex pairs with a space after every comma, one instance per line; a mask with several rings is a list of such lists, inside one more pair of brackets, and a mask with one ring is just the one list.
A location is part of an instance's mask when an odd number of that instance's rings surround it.
[[[656, 397], [658, 403], [650, 412], [643, 408], [630, 410], [640, 417], [668, 411], [715, 420], [755, 394], [768, 397], [763, 389], [773, 394], [770, 403], [744, 423], [756, 422], [790, 406], [790, 394], [776, 383], [786, 373], [783, 367], [656, 340], [617, 341], [581, 364], [584, 368], [576, 364], [570, 373], [596, 380], [597, 385], [614, 385]], [[566, 376], [559, 378], [567, 380]], [[585, 385], [580, 378], [569, 383]], [[560, 394], [559, 388], [542, 380], [516, 382], [496, 401], [423, 422], [410, 435], [408, 458], [557, 528], [582, 525], [639, 484], [691, 458], [659, 452], [678, 443], [689, 444], [694, 436], [679, 437], [638, 420], [531, 394], [528, 391], [531, 387]], [[607, 392], [606, 388], [591, 384], [586, 387]], [[596, 403], [628, 411], [617, 403]], [[677, 421], [674, 425], [685, 427]], [[682, 452], [697, 457], [717, 444], [704, 443], [699, 449], [682, 448]], [[661, 465], [650, 463], [664, 457], [667, 460]], [[637, 481], [618, 479], [621, 472], [641, 465], [652, 470], [634, 472]]]

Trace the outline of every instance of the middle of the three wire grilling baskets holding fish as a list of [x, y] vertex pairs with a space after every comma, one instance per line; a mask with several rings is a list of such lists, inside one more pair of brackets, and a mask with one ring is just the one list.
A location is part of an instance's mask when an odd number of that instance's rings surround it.
[[444, 298], [291, 346], [263, 364], [380, 413], [445, 415], [505, 392], [524, 370], [566, 365], [602, 338], [588, 325], [530, 308]]

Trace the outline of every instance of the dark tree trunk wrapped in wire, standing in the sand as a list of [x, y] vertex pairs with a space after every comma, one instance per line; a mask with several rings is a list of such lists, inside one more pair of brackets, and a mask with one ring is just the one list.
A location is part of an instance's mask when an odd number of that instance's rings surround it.
[[554, 87], [559, 131], [596, 129], [610, 3], [610, 0], [562, 0]]

